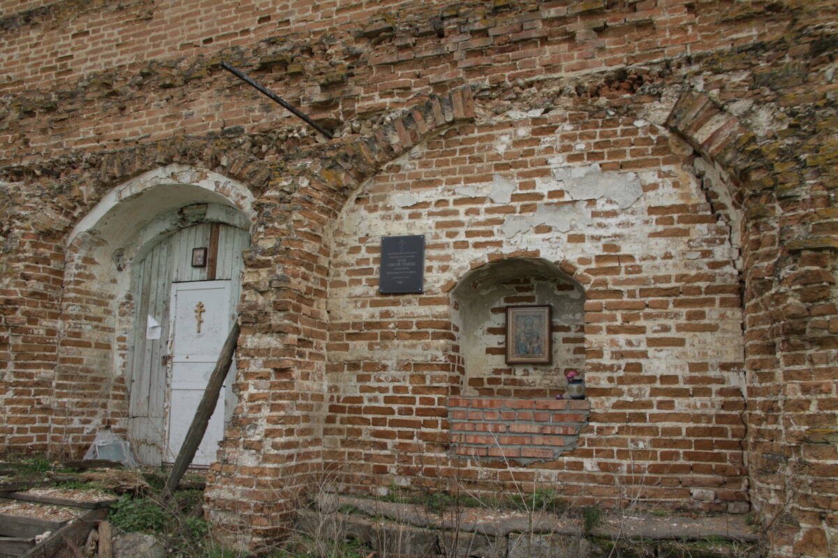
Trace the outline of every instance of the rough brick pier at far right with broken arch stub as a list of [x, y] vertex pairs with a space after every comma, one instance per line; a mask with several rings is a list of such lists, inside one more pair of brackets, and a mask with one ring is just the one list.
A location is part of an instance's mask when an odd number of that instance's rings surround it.
[[[681, 95], [667, 124], [701, 156], [696, 168], [704, 161], [724, 175], [709, 183], [714, 209], [741, 237], [750, 497], [763, 525], [773, 525], [774, 547], [808, 554], [813, 541], [838, 536], [812, 511], [830, 499], [821, 493], [833, 491], [825, 487], [838, 455], [824, 434], [838, 421], [831, 399], [838, 345], [825, 327], [838, 319], [830, 127], [808, 127], [800, 141], [803, 128], [788, 120], [794, 134], [779, 127], [758, 136], [694, 91]], [[780, 514], [790, 520], [775, 522]]]

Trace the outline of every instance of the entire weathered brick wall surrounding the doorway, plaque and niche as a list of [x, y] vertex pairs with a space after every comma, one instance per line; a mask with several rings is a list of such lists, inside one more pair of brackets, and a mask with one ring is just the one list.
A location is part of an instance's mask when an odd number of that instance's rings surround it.
[[[85, 373], [125, 340], [96, 321], [111, 311], [101, 297], [71, 291], [87, 263], [66, 253], [66, 235], [112, 187], [178, 162], [256, 197], [241, 406], [209, 493], [217, 520], [242, 512], [243, 544], [277, 535], [283, 500], [323, 456], [343, 463], [356, 491], [432, 483], [437, 471], [476, 479], [447, 453], [447, 397], [479, 377], [467, 370], [455, 287], [481, 265], [530, 258], [556, 263], [584, 293], [592, 411], [549, 473], [514, 468], [507, 479], [617, 501], [615, 479], [637, 489], [620, 468], [639, 462], [649, 501], [742, 509], [747, 455], [773, 552], [828, 554], [838, 497], [833, 8], [3, 2], [3, 447], [43, 449], [54, 428], [83, 425], [71, 433], [81, 445], [96, 422], [122, 416], [117, 403], [62, 418], [75, 412], [72, 392], [124, 397], [115, 369]], [[318, 146], [220, 70], [222, 57], [339, 139]], [[474, 86], [473, 119], [461, 105], [457, 122], [391, 122], [463, 84]], [[573, 191], [611, 173], [623, 186], [635, 173], [641, 197], [623, 207]], [[496, 176], [501, 192], [514, 186], [509, 202], [487, 195]], [[566, 207], [575, 217], [563, 231]], [[376, 295], [378, 236], [427, 230], [427, 293]], [[717, 354], [720, 343], [744, 356]], [[558, 370], [515, 370], [490, 364], [483, 377], [561, 391], [549, 384]]]

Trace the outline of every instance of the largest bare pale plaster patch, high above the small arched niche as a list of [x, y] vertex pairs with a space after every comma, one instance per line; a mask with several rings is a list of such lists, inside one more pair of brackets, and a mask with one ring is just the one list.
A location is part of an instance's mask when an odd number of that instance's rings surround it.
[[596, 163], [554, 168], [553, 176], [564, 183], [565, 191], [575, 200], [606, 197], [625, 209], [643, 195], [643, 187], [634, 172], [603, 172]]

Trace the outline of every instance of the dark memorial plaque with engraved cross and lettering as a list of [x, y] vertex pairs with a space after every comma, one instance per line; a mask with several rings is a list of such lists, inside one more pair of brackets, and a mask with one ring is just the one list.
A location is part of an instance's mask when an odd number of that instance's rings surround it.
[[378, 289], [383, 294], [422, 293], [425, 287], [425, 235], [381, 238]]

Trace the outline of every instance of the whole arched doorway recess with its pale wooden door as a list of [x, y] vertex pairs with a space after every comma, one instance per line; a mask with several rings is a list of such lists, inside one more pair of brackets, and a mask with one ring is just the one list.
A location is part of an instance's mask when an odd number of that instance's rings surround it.
[[[56, 443], [79, 453], [110, 426], [142, 463], [173, 460], [235, 319], [251, 202], [239, 182], [170, 165], [114, 188], [76, 225], [67, 239], [56, 368], [66, 389], [55, 398], [66, 417], [55, 421]], [[196, 464], [215, 461], [231, 383]]]

